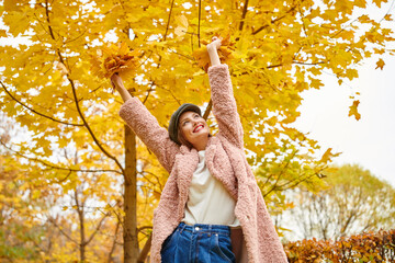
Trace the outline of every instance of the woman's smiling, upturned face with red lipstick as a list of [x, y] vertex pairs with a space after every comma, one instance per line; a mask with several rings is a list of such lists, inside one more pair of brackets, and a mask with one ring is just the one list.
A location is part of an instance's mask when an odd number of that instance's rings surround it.
[[203, 117], [195, 112], [184, 112], [179, 119], [179, 127], [183, 137], [193, 146], [208, 137], [208, 126]]

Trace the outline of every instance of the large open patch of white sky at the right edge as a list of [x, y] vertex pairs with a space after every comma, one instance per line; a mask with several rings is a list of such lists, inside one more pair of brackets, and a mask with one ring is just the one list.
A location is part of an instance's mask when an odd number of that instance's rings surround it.
[[[395, 187], [395, 56], [383, 56], [358, 67], [359, 78], [339, 87], [331, 75], [324, 75], [320, 90], [303, 93], [301, 116], [295, 127], [309, 133], [323, 148], [342, 152], [336, 164], [357, 163]], [[349, 117], [350, 95], [360, 92], [361, 118]]]

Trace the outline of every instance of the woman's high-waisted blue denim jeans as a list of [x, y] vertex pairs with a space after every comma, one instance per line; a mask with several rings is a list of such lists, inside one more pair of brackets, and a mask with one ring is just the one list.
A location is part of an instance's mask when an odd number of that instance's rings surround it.
[[181, 222], [165, 240], [162, 263], [234, 263], [230, 228], [217, 225], [188, 226]]

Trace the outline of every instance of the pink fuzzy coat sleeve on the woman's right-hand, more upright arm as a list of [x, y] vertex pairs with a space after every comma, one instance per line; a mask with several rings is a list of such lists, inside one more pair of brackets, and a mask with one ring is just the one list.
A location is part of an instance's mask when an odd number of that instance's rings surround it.
[[229, 69], [227, 65], [208, 68], [208, 79], [213, 101], [213, 114], [221, 134], [236, 147], [242, 149], [242, 126], [237, 113]]

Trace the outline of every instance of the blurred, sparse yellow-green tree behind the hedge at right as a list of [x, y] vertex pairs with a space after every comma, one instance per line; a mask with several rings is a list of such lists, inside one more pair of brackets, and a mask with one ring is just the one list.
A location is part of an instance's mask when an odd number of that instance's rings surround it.
[[325, 190], [290, 191], [290, 221], [303, 239], [338, 239], [395, 225], [395, 188], [360, 165], [345, 164], [326, 173]]

